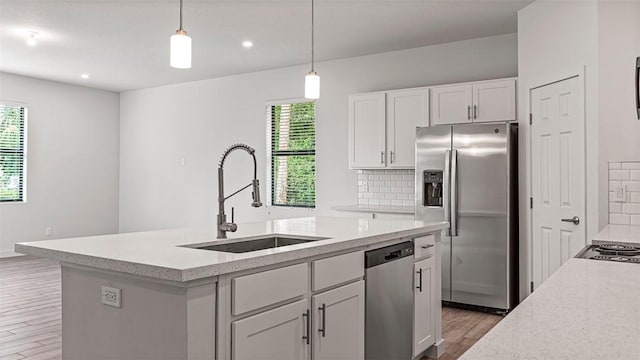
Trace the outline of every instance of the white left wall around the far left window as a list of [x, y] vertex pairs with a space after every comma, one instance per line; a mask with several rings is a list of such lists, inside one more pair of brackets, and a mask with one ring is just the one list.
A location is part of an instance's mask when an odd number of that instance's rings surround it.
[[0, 73], [1, 100], [28, 108], [28, 177], [26, 203], [0, 204], [0, 256], [16, 242], [117, 232], [118, 94]]

